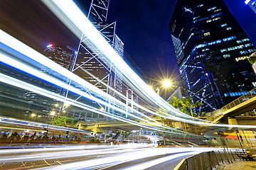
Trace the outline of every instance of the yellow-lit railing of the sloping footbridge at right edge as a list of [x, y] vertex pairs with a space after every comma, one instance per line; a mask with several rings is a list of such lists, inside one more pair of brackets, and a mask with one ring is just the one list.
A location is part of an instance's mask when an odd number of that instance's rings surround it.
[[235, 101], [228, 103], [226, 106], [223, 106], [222, 108], [220, 108], [216, 111], [213, 111], [211, 113], [210, 117], [208, 118], [208, 120], [213, 121], [217, 118], [223, 117], [224, 116], [223, 113], [225, 111], [228, 111], [230, 108], [234, 108], [235, 106], [238, 106], [240, 103], [243, 103], [255, 96], [256, 96], [256, 88], [247, 92], [247, 94], [244, 94], [244, 95], [240, 96], [239, 98], [235, 99]]

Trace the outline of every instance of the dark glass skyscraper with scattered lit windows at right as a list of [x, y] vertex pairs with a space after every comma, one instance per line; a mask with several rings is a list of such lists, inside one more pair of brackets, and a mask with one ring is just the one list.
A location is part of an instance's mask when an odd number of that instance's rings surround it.
[[256, 49], [223, 0], [178, 0], [169, 25], [186, 97], [213, 111], [254, 88]]

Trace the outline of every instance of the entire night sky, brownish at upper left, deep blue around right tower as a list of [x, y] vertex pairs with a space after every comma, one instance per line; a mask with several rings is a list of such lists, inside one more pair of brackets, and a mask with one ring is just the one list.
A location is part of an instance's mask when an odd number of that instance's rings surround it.
[[[244, 0], [225, 2], [256, 45], [256, 14]], [[170, 78], [181, 84], [169, 30], [175, 5], [176, 0], [110, 0], [107, 21], [117, 21], [116, 33], [124, 42], [124, 50], [142, 69], [148, 83], [150, 79]], [[41, 1], [1, 0], [0, 28], [38, 52], [50, 42], [73, 48], [79, 43]], [[124, 60], [128, 61], [127, 57]]]

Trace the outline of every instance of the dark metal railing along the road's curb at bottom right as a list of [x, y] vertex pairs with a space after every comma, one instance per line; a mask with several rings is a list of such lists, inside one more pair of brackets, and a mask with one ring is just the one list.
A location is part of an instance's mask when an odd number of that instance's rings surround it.
[[192, 170], [202, 169], [211, 170], [215, 169], [220, 164], [233, 163], [235, 160], [240, 160], [238, 154], [242, 152], [203, 152], [191, 157], [184, 158], [174, 170]]

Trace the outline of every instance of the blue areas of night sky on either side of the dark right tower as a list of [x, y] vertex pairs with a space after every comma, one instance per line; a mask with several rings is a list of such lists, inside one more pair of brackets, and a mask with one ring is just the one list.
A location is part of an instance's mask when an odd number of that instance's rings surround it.
[[[252, 40], [252, 43], [256, 45], [256, 33], [253, 31], [253, 28], [256, 28], [255, 13], [242, 0], [225, 0], [225, 4], [230, 8], [240, 26], [245, 30], [250, 40]], [[167, 69], [169, 74], [174, 72], [174, 77], [179, 76], [176, 56], [171, 42], [171, 33], [169, 28], [167, 28], [167, 23], [171, 21], [175, 5], [176, 0], [146, 1], [145, 3], [137, 3], [137, 1], [110, 1], [109, 19], [113, 18], [118, 22], [117, 33], [119, 33], [119, 37], [124, 41], [124, 48], [129, 52], [134, 62], [137, 62], [143, 71], [148, 70], [147, 66], [150, 65], [150, 74], [148, 71], [146, 72], [149, 78], [151, 75], [154, 78], [157, 76], [161, 77], [161, 70], [166, 72]], [[137, 18], [137, 13], [139, 13], [141, 18]], [[156, 22], [159, 23], [156, 24]], [[129, 26], [127, 26], [127, 23], [130, 23]], [[135, 33], [137, 36], [126, 36], [132, 33]], [[149, 37], [145, 35], [149, 35]], [[151, 38], [151, 41], [146, 41], [148, 38]], [[164, 44], [167, 50], [159, 52], [159, 49], [156, 47], [157, 44]], [[150, 54], [152, 55], [150, 56]], [[147, 60], [144, 61], [144, 57], [140, 56], [147, 56]], [[160, 67], [161, 65], [159, 64], [163, 64], [163, 66]], [[177, 80], [180, 81], [179, 78]]]

